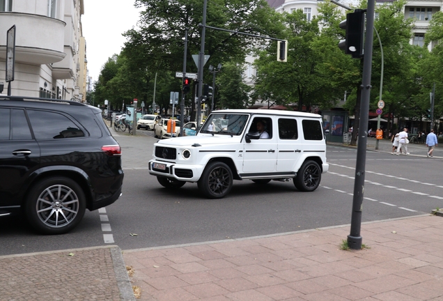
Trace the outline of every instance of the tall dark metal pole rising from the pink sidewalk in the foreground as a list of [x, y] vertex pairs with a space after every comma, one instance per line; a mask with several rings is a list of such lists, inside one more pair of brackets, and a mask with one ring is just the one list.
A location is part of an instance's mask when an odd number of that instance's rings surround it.
[[355, 164], [354, 196], [352, 198], [352, 217], [348, 246], [350, 249], [362, 249], [362, 210], [364, 194], [364, 176], [366, 167], [366, 142], [369, 114], [369, 99], [371, 98], [371, 70], [374, 36], [375, 0], [368, 0], [366, 10], [366, 38], [364, 43], [364, 63], [362, 79], [362, 103], [360, 105], [359, 139], [357, 145], [357, 162]]

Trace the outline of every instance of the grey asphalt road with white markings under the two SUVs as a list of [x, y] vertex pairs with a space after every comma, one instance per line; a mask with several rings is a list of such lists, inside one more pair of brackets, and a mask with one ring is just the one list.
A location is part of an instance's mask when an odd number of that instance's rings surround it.
[[[355, 148], [328, 144], [329, 173], [322, 175], [315, 192], [298, 192], [292, 181], [256, 185], [247, 180], [235, 181], [226, 198], [208, 200], [196, 184], [166, 190], [157, 183], [146, 168], [157, 139], [150, 137], [152, 132], [137, 133], [115, 134], [125, 170], [123, 196], [116, 203], [86, 212], [75, 230], [60, 236], [36, 235], [21, 217], [0, 219], [0, 255], [109, 243], [139, 249], [350, 224]], [[443, 207], [442, 158], [427, 158], [423, 150], [410, 146], [408, 156], [366, 153], [363, 222]]]

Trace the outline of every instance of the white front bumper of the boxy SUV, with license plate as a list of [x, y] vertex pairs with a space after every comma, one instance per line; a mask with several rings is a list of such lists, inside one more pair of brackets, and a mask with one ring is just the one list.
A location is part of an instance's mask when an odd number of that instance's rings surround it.
[[[205, 167], [194, 164], [176, 164], [175, 162], [164, 162], [159, 160], [149, 161], [149, 174], [152, 176], [164, 176], [175, 178], [185, 182], [196, 182], [200, 179]], [[163, 169], [164, 167], [164, 169]]]

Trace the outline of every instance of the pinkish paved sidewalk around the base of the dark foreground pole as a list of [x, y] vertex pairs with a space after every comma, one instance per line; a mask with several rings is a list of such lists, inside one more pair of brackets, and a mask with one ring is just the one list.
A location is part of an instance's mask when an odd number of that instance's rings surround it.
[[139, 300], [443, 300], [443, 218], [362, 224], [201, 245], [125, 250]]

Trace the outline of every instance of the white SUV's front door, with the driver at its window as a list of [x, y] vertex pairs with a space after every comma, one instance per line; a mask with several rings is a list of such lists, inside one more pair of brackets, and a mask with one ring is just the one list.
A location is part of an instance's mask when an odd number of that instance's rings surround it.
[[259, 121], [265, 123], [265, 131], [269, 134], [268, 139], [251, 140], [249, 143], [243, 139], [243, 172], [258, 173], [273, 172], [277, 164], [277, 135], [274, 134], [274, 117], [254, 115], [251, 119], [247, 132], [257, 132], [256, 126]]

